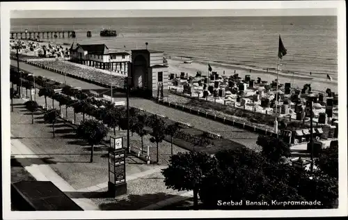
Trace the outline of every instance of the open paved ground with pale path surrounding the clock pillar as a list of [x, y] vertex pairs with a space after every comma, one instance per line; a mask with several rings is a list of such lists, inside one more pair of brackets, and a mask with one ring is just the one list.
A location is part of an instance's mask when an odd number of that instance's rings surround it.
[[[35, 113], [35, 124], [31, 124], [31, 114], [22, 105], [24, 102], [25, 99], [15, 99], [11, 112], [12, 157], [36, 180], [52, 181], [84, 210], [138, 210], [157, 203], [162, 204], [155, 205], [159, 208], [189, 198], [181, 191], [166, 189], [160, 173], [165, 165], [148, 165], [137, 158], [127, 158], [126, 180], [127, 196], [133, 199], [135, 196], [139, 201], [107, 198], [108, 168], [107, 157], [104, 157], [107, 150], [96, 146], [95, 162], [89, 163], [89, 150], [70, 137], [71, 134], [66, 134], [70, 132], [68, 127], [57, 123], [57, 134], [53, 139], [52, 127], [40, 119], [42, 113]], [[175, 200], [166, 200], [174, 197]], [[132, 205], [134, 202], [137, 203], [135, 206]]]

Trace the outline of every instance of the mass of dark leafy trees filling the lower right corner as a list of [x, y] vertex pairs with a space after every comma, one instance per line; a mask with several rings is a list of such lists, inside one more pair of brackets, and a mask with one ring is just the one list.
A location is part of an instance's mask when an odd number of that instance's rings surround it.
[[[214, 156], [204, 152], [178, 153], [162, 170], [167, 187], [192, 190], [198, 208], [198, 195], [203, 209], [313, 209], [332, 208], [338, 200], [338, 146], [326, 148], [315, 161], [314, 173], [294, 168], [282, 159], [287, 144], [276, 138], [260, 137], [262, 152], [248, 148], [225, 150]], [[276, 150], [280, 144], [280, 150]], [[238, 205], [221, 205], [240, 202]], [[258, 202], [247, 205], [246, 201]], [[319, 201], [317, 205], [277, 202]], [[267, 203], [262, 203], [267, 202]]]

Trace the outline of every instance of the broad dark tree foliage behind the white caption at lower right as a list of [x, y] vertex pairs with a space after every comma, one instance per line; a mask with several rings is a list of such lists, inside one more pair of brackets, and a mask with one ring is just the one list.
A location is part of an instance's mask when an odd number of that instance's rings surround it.
[[321, 201], [316, 208], [333, 207], [338, 198], [337, 179], [309, 173], [290, 164], [267, 159], [248, 148], [215, 154], [216, 166], [203, 178], [200, 200], [206, 209], [312, 209], [306, 205], [219, 206], [216, 201]]

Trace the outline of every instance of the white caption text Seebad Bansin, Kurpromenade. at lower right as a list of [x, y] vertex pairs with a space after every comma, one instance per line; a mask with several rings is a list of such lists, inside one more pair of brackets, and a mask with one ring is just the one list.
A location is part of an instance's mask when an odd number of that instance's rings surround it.
[[240, 205], [322, 205], [320, 201], [217, 201], [221, 206], [240, 206]]

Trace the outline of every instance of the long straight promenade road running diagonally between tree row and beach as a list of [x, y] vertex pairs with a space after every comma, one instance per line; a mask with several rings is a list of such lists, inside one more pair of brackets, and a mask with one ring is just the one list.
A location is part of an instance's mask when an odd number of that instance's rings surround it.
[[[11, 60], [11, 65], [17, 66], [16, 61]], [[35, 75], [49, 77], [56, 81], [64, 81], [64, 76], [55, 72], [48, 70], [43, 70], [37, 68], [33, 65], [28, 65], [26, 63], [19, 63], [19, 68], [27, 70], [29, 72], [34, 72]], [[98, 89], [102, 88], [94, 84], [89, 84], [78, 79], [67, 77], [68, 84], [81, 89]], [[125, 98], [118, 97], [116, 100], [124, 101]], [[186, 113], [177, 109], [172, 109], [171, 107], [165, 107], [161, 104], [157, 104], [151, 100], [145, 100], [141, 98], [131, 97], [129, 99], [129, 105], [131, 107], [138, 107], [148, 111], [150, 113], [157, 113], [163, 116], [167, 116], [172, 120], [181, 120], [190, 123], [193, 127], [198, 129], [209, 130], [210, 132], [215, 132], [223, 135], [226, 139], [240, 143], [248, 148], [257, 149], [256, 140], [258, 139], [258, 134], [253, 132], [248, 132], [245, 129], [239, 129], [237, 127], [232, 127], [229, 125], [224, 125], [223, 123], [216, 122], [214, 120], [209, 120], [200, 116], [194, 116], [190, 113]]]

